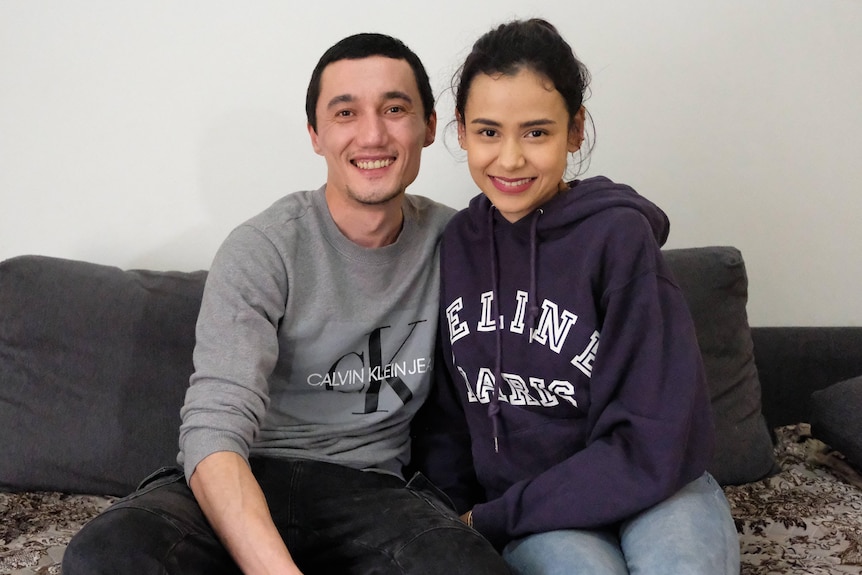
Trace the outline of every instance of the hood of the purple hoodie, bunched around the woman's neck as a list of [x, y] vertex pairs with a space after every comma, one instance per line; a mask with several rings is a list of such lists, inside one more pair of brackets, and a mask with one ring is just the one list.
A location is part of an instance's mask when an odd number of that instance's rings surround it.
[[[635, 192], [629, 186], [617, 184], [603, 176], [569, 182], [569, 188], [560, 192], [536, 210], [512, 225], [515, 230], [524, 229], [525, 233], [541, 233], [577, 224], [601, 211], [627, 207], [639, 211], [649, 221], [653, 235], [659, 245], [664, 245], [670, 233], [667, 215], [654, 203]], [[470, 219], [481, 229], [494, 212], [499, 222], [506, 222], [496, 213], [493, 204], [484, 194], [470, 201]], [[508, 222], [506, 222], [508, 223]]]

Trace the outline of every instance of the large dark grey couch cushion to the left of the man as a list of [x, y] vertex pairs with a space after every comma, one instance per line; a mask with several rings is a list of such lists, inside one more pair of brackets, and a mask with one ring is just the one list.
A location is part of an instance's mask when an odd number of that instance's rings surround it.
[[0, 263], [0, 489], [124, 495], [175, 464], [205, 277]]

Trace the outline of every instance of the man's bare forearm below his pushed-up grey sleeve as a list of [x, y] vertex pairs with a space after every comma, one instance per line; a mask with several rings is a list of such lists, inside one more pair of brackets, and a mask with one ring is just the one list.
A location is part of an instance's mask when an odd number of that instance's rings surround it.
[[246, 461], [219, 451], [198, 464], [189, 486], [228, 552], [246, 575], [302, 575], [293, 562]]

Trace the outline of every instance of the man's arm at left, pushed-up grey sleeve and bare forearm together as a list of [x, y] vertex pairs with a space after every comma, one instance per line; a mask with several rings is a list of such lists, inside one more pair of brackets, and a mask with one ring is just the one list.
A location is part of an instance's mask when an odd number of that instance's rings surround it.
[[201, 509], [246, 575], [300, 573], [246, 457], [266, 413], [287, 277], [260, 231], [239, 226], [216, 253], [181, 410], [179, 462]]

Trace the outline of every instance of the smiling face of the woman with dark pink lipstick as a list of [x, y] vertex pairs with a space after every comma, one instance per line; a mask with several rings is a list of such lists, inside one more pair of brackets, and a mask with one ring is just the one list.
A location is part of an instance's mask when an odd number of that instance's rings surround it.
[[515, 222], [561, 189], [568, 153], [583, 140], [583, 120], [583, 107], [570, 119], [563, 96], [529, 69], [480, 74], [458, 119], [458, 142], [473, 181]]

